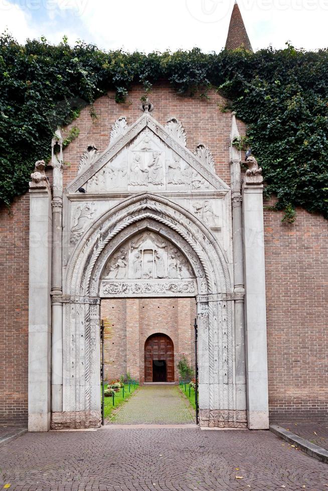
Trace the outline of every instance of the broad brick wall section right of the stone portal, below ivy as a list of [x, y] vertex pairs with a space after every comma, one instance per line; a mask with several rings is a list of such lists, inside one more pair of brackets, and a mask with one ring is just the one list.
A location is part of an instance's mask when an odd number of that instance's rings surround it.
[[328, 416], [328, 221], [265, 211], [270, 421]]

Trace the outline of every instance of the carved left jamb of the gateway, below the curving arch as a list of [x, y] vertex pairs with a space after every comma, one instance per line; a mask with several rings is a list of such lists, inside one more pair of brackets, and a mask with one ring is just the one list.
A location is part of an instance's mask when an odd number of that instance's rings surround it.
[[100, 298], [62, 297], [63, 409], [52, 413], [51, 427], [99, 427]]

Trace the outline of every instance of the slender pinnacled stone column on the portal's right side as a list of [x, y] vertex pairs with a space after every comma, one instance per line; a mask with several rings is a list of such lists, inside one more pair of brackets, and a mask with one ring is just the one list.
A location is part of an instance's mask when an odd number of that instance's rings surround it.
[[232, 188], [232, 239], [234, 258], [234, 292], [240, 294], [235, 300], [235, 356], [236, 356], [236, 409], [246, 409], [246, 361], [245, 361], [245, 317], [244, 317], [244, 258], [242, 230], [242, 196], [240, 161], [241, 152], [233, 145], [239, 142], [240, 134], [236, 113], [232, 113], [230, 132], [230, 172]]

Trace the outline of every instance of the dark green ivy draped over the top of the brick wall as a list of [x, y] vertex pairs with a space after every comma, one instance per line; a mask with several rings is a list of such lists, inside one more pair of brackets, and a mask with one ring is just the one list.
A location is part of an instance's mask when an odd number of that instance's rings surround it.
[[[49, 157], [55, 129], [108, 90], [116, 102], [132, 84], [145, 93], [167, 80], [183, 97], [208, 98], [217, 89], [247, 124], [250, 145], [263, 168], [267, 195], [293, 221], [295, 206], [328, 218], [328, 50], [304, 52], [287, 45], [249, 53], [103, 52], [67, 39], [24, 46], [0, 37], [0, 200], [10, 204], [27, 190], [34, 163]], [[74, 135], [71, 135], [74, 137]]]

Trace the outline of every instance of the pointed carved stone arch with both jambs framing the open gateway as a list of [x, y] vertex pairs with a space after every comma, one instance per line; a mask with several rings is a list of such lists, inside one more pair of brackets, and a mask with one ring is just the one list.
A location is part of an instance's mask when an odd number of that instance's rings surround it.
[[[237, 418], [245, 419], [245, 415], [236, 411], [232, 268], [211, 231], [195, 215], [151, 193], [134, 195], [105, 212], [71, 254], [63, 285], [63, 413], [74, 418], [83, 411], [88, 424], [100, 422], [102, 277], [120, 244], [142, 230], [174, 244], [194, 272], [194, 286], [188, 286], [187, 296], [197, 302], [200, 422], [236, 426]], [[170, 288], [171, 296], [186, 296], [175, 282]], [[151, 290], [147, 294], [157, 296]]]

